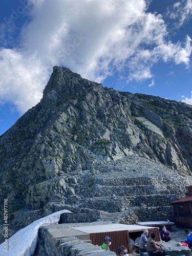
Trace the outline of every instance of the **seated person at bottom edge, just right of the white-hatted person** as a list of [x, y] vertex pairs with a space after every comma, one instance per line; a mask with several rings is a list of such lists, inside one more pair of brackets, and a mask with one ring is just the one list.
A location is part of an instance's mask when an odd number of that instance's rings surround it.
[[147, 249], [148, 254], [150, 254], [150, 256], [165, 255], [163, 247], [160, 244], [158, 244], [157, 242], [155, 242], [155, 240], [154, 240], [155, 238], [156, 238], [156, 234], [152, 233], [151, 237], [148, 238], [148, 240], [147, 240], [146, 249]]

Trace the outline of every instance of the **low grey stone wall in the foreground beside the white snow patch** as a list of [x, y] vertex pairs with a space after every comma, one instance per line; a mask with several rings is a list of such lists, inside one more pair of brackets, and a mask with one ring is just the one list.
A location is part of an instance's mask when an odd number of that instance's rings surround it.
[[[60, 227], [61, 226], [61, 227]], [[33, 256], [113, 256], [112, 251], [102, 250], [89, 240], [89, 234], [70, 227], [54, 224], [39, 229], [38, 243]]]

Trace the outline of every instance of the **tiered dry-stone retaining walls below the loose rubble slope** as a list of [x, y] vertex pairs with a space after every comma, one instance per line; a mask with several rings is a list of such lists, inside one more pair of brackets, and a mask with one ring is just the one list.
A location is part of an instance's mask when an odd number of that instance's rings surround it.
[[134, 175], [135, 173], [106, 172], [87, 176], [86, 182], [81, 183], [79, 199], [68, 200], [81, 208], [106, 211], [108, 214], [103, 216], [103, 220], [113, 222], [135, 224], [137, 221], [147, 220], [174, 221], [170, 203], [178, 200], [178, 195], [182, 194], [175, 179], [170, 183], [170, 180], [163, 176]]

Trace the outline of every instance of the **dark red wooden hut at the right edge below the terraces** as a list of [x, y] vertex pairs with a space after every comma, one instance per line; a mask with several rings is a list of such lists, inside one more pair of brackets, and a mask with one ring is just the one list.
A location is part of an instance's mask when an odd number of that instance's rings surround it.
[[188, 186], [186, 198], [171, 202], [177, 227], [192, 228], [192, 185]]

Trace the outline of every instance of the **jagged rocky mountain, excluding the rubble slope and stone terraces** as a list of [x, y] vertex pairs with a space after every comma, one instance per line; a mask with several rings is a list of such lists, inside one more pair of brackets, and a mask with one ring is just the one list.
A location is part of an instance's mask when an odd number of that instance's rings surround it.
[[1, 198], [8, 198], [11, 211], [44, 209], [54, 200], [65, 205], [69, 195], [82, 196], [81, 179], [70, 177], [132, 155], [188, 177], [191, 108], [160, 97], [103, 88], [55, 66], [40, 102], [0, 137]]

